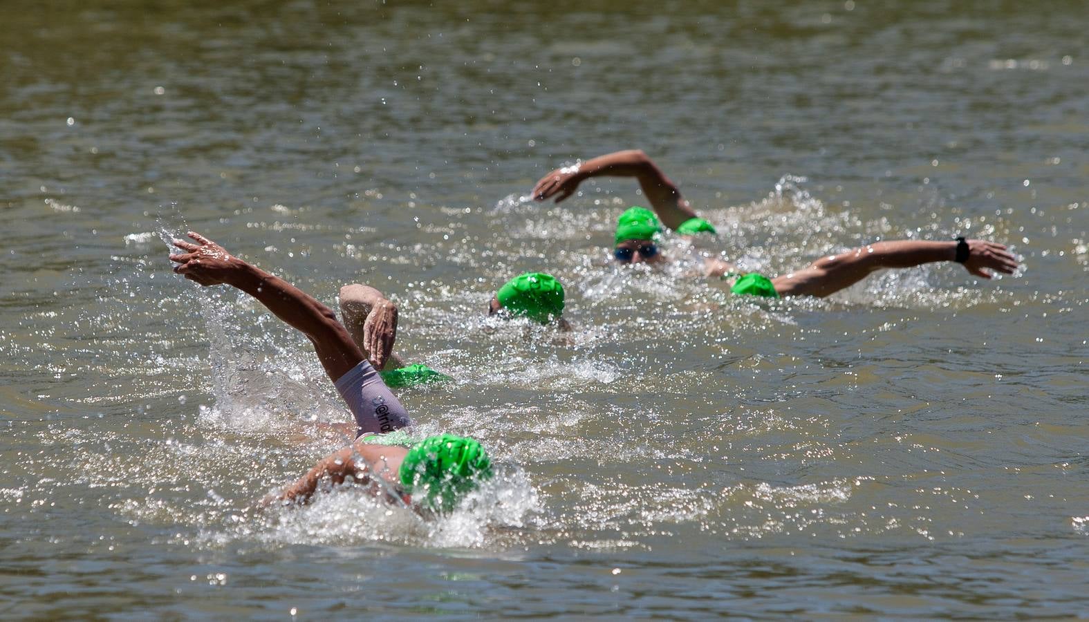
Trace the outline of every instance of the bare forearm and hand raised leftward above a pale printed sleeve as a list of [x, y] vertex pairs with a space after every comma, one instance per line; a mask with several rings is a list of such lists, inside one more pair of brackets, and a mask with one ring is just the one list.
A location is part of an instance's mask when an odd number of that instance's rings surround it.
[[174, 240], [184, 254], [171, 255], [174, 271], [208, 286], [228, 284], [257, 298], [277, 317], [314, 343], [326, 374], [335, 382], [360, 361], [363, 353], [329, 307], [283, 279], [234, 257], [222, 246], [194, 232], [196, 243]]

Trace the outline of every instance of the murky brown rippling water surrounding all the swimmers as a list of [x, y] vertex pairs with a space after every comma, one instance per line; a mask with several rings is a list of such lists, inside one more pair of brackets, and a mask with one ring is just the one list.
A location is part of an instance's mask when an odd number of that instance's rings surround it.
[[[727, 4], [3, 2], [3, 613], [1089, 614], [1085, 5]], [[780, 303], [615, 270], [633, 184], [524, 195], [627, 147], [751, 269], [958, 233], [1024, 269]], [[501, 462], [484, 507], [243, 515], [346, 414], [170, 273], [188, 228], [394, 297], [457, 379], [401, 393], [421, 434]], [[568, 337], [481, 317], [525, 269]]]

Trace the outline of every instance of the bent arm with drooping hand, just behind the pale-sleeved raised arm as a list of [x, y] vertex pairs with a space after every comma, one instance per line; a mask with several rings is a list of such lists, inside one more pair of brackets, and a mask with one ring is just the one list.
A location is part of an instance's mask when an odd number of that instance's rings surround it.
[[375, 369], [405, 366], [393, 353], [397, 339], [397, 305], [370, 285], [352, 283], [341, 288], [340, 307], [344, 327]]

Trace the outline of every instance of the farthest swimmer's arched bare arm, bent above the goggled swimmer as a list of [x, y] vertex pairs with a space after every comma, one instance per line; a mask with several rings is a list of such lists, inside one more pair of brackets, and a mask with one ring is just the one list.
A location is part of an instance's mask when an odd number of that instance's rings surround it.
[[574, 167], [556, 169], [537, 182], [533, 195], [537, 200], [554, 196], [555, 202], [560, 203], [574, 194], [583, 181], [597, 176], [636, 178], [658, 218], [670, 229], [676, 229], [682, 222], [696, 218], [696, 211], [681, 196], [676, 184], [639, 149], [615, 151]]

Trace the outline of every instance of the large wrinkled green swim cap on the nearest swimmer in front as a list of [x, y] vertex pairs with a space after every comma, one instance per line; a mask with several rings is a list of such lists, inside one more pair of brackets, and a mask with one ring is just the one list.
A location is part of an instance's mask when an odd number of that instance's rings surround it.
[[[439, 435], [408, 450], [399, 471], [405, 492], [437, 512], [449, 512], [481, 479], [491, 477], [491, 459], [475, 439]], [[417, 496], [426, 493], [426, 498]]]

